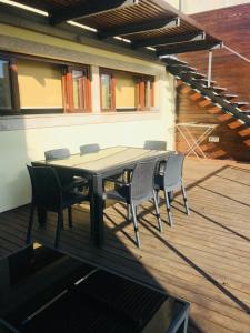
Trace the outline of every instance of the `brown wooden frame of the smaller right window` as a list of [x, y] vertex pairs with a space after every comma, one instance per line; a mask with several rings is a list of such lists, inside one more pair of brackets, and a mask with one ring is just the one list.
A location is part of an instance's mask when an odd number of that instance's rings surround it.
[[[100, 103], [101, 103], [101, 111], [102, 112], [117, 112], [116, 109], [116, 72], [122, 72], [120, 70], [112, 70], [112, 69], [104, 69], [100, 68], [99, 74], [100, 74]], [[138, 101], [136, 105], [136, 111], [149, 111], [150, 108], [153, 108], [154, 105], [154, 77], [149, 77], [149, 75], [140, 75], [133, 72], [127, 72], [133, 75], [136, 79], [138, 79], [137, 82], [137, 95], [138, 95]], [[103, 109], [102, 107], [102, 84], [101, 84], [101, 75], [110, 75], [111, 80], [111, 108], [110, 109]], [[149, 92], [149, 105], [146, 105], [146, 84], [147, 82], [150, 81], [150, 92]]]

